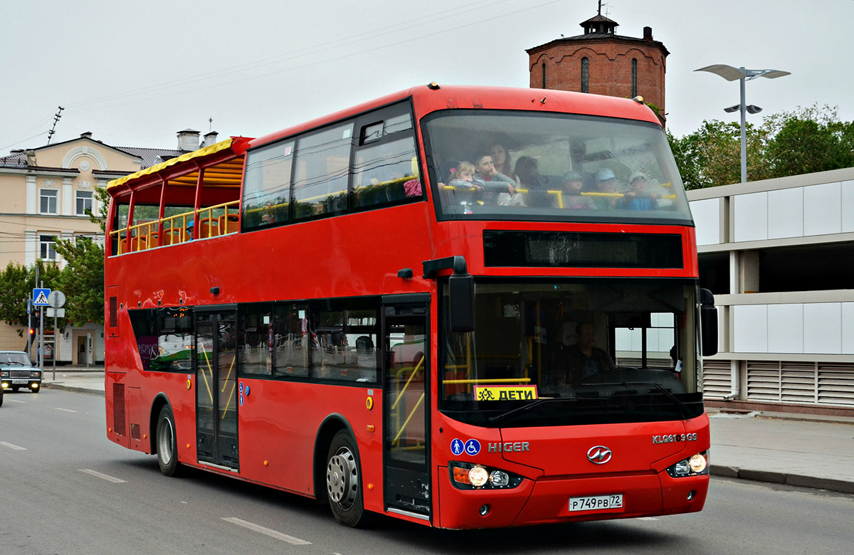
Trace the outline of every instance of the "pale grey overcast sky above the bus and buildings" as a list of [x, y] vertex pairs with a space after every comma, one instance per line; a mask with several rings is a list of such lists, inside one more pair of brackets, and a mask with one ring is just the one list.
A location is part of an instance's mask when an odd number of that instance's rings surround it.
[[[763, 114], [828, 104], [854, 120], [854, 0], [609, 0], [617, 34], [670, 50], [677, 136], [739, 84], [714, 63], [792, 73], [747, 82]], [[412, 85], [529, 86], [525, 49], [596, 14], [595, 0], [0, 0], [0, 155], [91, 131], [172, 149], [192, 128], [259, 137]], [[642, 91], [640, 91], [642, 94]], [[749, 116], [760, 123], [763, 114]], [[211, 124], [208, 120], [213, 119]]]

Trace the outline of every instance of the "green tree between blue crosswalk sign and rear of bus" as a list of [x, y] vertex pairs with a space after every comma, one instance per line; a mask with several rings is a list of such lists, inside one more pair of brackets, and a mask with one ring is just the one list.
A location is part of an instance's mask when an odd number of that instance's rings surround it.
[[89, 237], [56, 241], [56, 252], [66, 261], [60, 284], [66, 296], [69, 324], [104, 322], [104, 249]]

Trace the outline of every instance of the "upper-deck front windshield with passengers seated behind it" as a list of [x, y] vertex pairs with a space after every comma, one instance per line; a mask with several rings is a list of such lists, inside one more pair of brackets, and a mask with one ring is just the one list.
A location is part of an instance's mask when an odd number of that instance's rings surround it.
[[691, 220], [655, 124], [446, 110], [423, 125], [440, 219]]

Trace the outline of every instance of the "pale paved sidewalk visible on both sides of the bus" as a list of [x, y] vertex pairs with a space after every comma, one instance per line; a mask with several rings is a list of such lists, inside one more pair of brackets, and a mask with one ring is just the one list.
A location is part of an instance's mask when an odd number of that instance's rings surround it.
[[[45, 389], [104, 394], [103, 366], [44, 369]], [[854, 415], [709, 409], [711, 474], [854, 494]]]

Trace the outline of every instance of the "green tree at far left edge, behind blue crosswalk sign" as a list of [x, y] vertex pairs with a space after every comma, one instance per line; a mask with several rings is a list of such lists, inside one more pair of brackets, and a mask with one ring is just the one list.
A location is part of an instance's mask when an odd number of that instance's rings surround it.
[[[39, 259], [36, 265], [38, 265], [38, 281], [44, 283], [46, 288], [55, 289], [60, 283], [61, 273], [56, 264], [45, 263]], [[38, 287], [42, 286], [41, 283]], [[26, 267], [9, 262], [6, 269], [0, 272], [0, 319], [17, 328], [18, 336], [23, 336], [24, 330], [28, 327], [26, 299], [35, 287], [35, 266]], [[33, 319], [33, 324], [35, 323]], [[45, 323], [47, 324], [47, 320]]]

